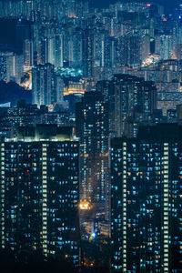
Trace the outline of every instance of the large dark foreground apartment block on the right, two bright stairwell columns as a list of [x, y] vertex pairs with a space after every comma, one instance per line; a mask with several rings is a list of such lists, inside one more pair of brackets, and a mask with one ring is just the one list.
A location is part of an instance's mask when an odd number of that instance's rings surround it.
[[111, 141], [113, 271], [179, 272], [182, 126], [144, 126]]

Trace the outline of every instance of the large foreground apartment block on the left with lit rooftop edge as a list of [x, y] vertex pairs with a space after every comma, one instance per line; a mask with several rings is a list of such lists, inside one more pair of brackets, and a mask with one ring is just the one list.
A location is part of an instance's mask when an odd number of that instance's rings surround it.
[[21, 127], [1, 141], [0, 245], [79, 263], [79, 145], [71, 127]]

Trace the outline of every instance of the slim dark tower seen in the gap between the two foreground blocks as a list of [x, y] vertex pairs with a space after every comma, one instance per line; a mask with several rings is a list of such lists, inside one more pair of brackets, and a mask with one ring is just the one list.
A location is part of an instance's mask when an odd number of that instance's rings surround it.
[[76, 104], [80, 138], [80, 198], [108, 218], [108, 110], [104, 96], [86, 92]]

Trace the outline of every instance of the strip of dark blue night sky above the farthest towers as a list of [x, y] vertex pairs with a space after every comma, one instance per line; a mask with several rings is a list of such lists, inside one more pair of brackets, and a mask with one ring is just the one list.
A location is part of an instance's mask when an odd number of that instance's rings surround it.
[[[116, 0], [90, 0], [90, 1], [94, 3], [96, 7], [107, 6], [110, 3], [112, 4], [112, 3], [118, 2]], [[134, 2], [133, 0], [130, 0], [130, 1]], [[139, 0], [136, 0], [136, 1], [140, 2]], [[120, 2], [122, 2], [122, 0], [120, 0]], [[127, 1], [123, 0], [123, 2], [128, 2], [128, 0]], [[182, 0], [155, 0], [155, 1], [143, 0], [142, 2], [147, 2], [147, 3], [156, 2], [158, 4], [162, 4], [167, 8], [167, 11], [170, 11], [171, 8], [174, 8], [176, 5], [182, 4]]]

